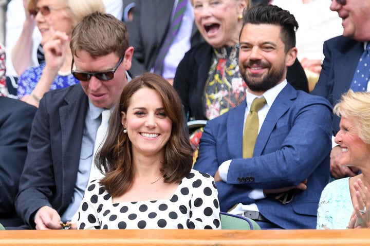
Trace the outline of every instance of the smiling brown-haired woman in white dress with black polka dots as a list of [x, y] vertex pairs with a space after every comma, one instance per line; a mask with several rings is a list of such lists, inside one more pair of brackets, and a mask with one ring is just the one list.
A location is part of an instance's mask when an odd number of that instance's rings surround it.
[[220, 229], [213, 178], [192, 169], [181, 100], [162, 77], [128, 83], [96, 158], [78, 229]]

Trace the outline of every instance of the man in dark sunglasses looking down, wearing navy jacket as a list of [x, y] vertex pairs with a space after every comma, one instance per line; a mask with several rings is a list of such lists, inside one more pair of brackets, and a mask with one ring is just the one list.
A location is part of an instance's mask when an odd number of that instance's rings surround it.
[[130, 80], [134, 48], [113, 15], [86, 16], [73, 29], [70, 48], [72, 74], [81, 83], [47, 92], [32, 126], [15, 201], [28, 228], [62, 229], [72, 219], [89, 180], [102, 112], [113, 110]]

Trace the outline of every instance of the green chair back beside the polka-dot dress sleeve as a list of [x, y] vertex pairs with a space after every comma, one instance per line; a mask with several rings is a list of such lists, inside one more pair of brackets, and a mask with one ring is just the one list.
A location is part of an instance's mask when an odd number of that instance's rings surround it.
[[261, 230], [254, 220], [243, 216], [220, 212], [220, 219], [223, 230]]

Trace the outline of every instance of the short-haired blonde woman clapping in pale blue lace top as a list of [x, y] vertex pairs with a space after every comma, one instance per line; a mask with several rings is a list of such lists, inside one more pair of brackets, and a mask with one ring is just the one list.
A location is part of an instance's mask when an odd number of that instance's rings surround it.
[[335, 180], [324, 188], [317, 229], [367, 228], [370, 213], [370, 93], [349, 90], [334, 107], [341, 117], [335, 141], [342, 148], [340, 164], [361, 174]]

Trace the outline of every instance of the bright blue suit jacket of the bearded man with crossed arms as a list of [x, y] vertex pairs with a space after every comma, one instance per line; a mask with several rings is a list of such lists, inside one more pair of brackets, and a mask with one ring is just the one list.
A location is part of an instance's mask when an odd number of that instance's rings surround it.
[[[216, 182], [223, 212], [236, 203], [256, 203], [262, 215], [284, 229], [315, 229], [320, 195], [329, 181], [330, 104], [287, 84], [271, 105], [248, 159], [242, 158], [245, 109], [241, 104], [208, 121], [194, 169], [214, 176], [220, 164], [232, 160], [227, 183]], [[248, 198], [253, 189], [289, 187], [305, 179], [307, 190], [295, 192], [288, 204], [275, 195]]]

